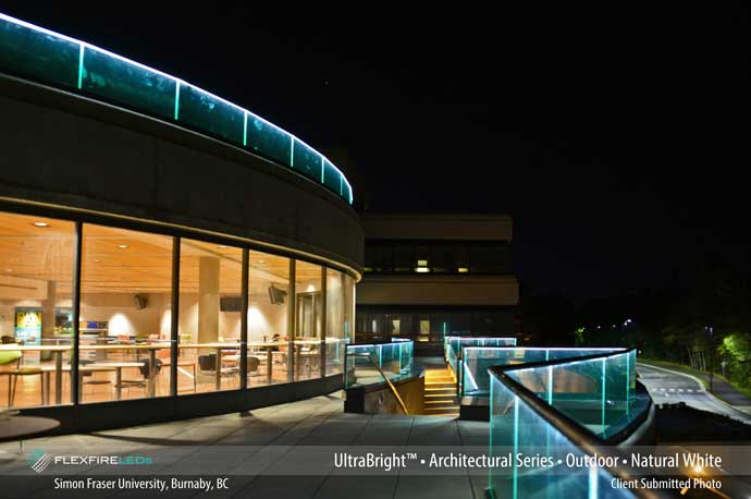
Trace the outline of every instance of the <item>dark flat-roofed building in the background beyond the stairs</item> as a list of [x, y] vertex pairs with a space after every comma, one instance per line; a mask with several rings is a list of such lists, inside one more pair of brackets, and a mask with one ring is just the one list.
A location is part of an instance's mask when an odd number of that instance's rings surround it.
[[512, 336], [518, 283], [506, 215], [370, 215], [357, 285], [358, 341]]

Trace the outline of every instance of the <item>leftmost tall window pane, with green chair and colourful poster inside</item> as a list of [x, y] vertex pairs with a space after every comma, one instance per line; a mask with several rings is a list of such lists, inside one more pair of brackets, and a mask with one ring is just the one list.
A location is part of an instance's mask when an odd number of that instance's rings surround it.
[[74, 224], [0, 212], [0, 407], [70, 403]]

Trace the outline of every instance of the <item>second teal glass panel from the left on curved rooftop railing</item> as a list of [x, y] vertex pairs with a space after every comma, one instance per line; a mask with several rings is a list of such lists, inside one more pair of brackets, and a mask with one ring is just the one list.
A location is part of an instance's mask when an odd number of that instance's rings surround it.
[[84, 50], [82, 89], [165, 119], [175, 117], [177, 82], [96, 49]]

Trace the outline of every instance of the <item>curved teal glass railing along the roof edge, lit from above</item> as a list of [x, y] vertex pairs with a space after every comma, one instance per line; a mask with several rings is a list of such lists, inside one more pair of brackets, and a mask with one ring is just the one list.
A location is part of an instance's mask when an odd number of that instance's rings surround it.
[[180, 78], [2, 13], [0, 71], [210, 135], [353, 202], [349, 182], [325, 156], [263, 118]]

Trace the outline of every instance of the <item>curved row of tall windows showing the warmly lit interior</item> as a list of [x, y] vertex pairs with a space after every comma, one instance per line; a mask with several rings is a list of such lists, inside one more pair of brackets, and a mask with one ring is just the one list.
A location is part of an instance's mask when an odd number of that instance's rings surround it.
[[0, 211], [0, 407], [343, 372], [350, 276], [236, 239], [150, 228]]

